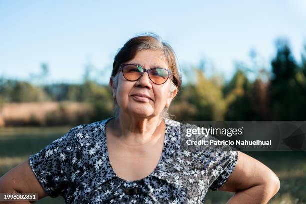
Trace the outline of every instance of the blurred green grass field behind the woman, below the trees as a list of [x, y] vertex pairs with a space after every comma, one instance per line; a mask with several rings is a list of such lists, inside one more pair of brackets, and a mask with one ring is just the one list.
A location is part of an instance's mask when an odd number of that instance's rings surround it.
[[[0, 176], [28, 156], [61, 137], [69, 127], [0, 128]], [[271, 168], [279, 177], [281, 188], [270, 203], [306, 203], [306, 151], [246, 152]], [[209, 191], [205, 203], [225, 203], [232, 193]], [[61, 197], [46, 197], [39, 204], [65, 203]]]

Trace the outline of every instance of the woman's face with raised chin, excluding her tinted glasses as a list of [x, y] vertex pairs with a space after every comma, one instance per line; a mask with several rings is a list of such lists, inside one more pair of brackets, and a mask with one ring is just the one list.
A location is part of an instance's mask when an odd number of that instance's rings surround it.
[[[157, 50], [142, 50], [125, 63], [139, 64], [145, 69], [161, 67], [168, 69], [164, 54]], [[113, 96], [116, 97], [120, 111], [138, 117], [158, 116], [165, 107], [168, 107], [175, 97], [177, 90], [170, 93], [171, 79], [164, 84], [153, 83], [145, 72], [137, 81], [128, 81], [122, 71], [118, 73], [118, 84], [111, 84]], [[148, 96], [143, 97], [143, 96]]]

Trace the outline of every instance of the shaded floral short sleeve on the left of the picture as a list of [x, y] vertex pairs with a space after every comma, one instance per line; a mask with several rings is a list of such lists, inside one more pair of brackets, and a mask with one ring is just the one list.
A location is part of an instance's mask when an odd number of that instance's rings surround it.
[[37, 180], [50, 197], [65, 196], [77, 154], [75, 129], [29, 157]]

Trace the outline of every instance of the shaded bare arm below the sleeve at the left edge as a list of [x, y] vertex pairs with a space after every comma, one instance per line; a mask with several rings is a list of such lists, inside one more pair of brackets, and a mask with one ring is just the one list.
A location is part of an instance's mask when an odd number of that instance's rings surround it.
[[[34, 175], [28, 160], [11, 169], [0, 178], [0, 193], [38, 193], [38, 200], [48, 196]], [[21, 204], [30, 202], [12, 201], [5, 203]]]

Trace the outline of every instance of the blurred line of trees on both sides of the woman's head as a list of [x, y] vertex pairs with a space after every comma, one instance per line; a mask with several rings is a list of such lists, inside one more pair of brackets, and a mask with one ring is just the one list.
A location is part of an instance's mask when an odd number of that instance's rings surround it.
[[[297, 63], [286, 39], [276, 41], [271, 71], [257, 66], [249, 78], [245, 64], [237, 64], [231, 79], [220, 74], [207, 76], [203, 65], [191, 69], [169, 112], [176, 120], [306, 120], [306, 46]], [[184, 67], [182, 67], [184, 70]], [[189, 67], [190, 69], [190, 67]], [[47, 68], [43, 67], [44, 74]], [[189, 71], [190, 72], [190, 71]], [[88, 76], [88, 74], [87, 74]], [[0, 78], [0, 104], [77, 101], [94, 110], [90, 121], [112, 115], [113, 98], [108, 85], [85, 78], [81, 84], [44, 84]]]

